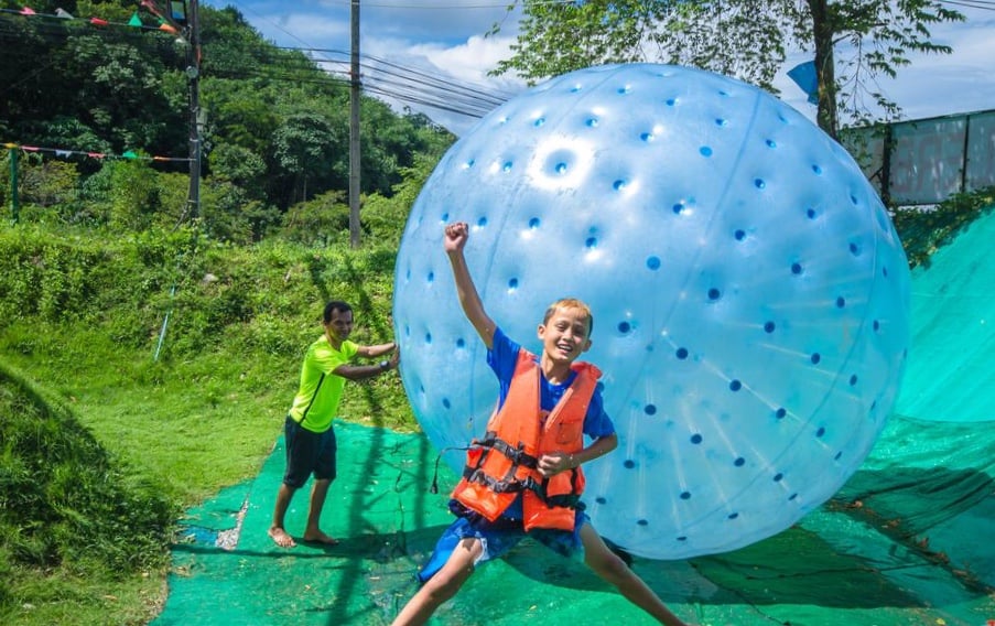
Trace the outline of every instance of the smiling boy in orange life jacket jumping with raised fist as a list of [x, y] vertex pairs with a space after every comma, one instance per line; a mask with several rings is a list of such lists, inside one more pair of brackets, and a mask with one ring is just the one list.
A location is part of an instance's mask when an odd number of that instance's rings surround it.
[[[485, 440], [475, 441], [467, 453], [464, 478], [453, 492], [450, 508], [457, 519], [419, 573], [424, 584], [393, 626], [424, 624], [478, 563], [501, 557], [527, 533], [564, 555], [583, 550], [585, 563], [630, 602], [661, 624], [683, 626], [608, 549], [578, 499], [584, 487], [581, 464], [618, 444], [596, 388], [601, 373], [576, 361], [591, 347], [591, 310], [572, 299], [550, 306], [539, 325], [542, 354], [537, 358], [509, 339], [484, 310], [463, 255], [468, 237], [465, 223], [450, 224], [444, 248], [459, 304], [487, 346], [487, 360], [500, 381], [500, 401]], [[585, 433], [594, 438], [586, 447]]]

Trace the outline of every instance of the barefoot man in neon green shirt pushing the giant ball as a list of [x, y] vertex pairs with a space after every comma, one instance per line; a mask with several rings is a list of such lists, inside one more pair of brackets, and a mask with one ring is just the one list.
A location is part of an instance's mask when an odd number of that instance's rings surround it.
[[[360, 346], [348, 341], [353, 332], [353, 307], [345, 302], [332, 301], [325, 305], [324, 335], [307, 348], [301, 367], [301, 386], [283, 427], [286, 443], [286, 472], [277, 493], [273, 524], [269, 535], [281, 548], [296, 546], [286, 532], [283, 519], [294, 493], [314, 475], [311, 489], [311, 507], [304, 541], [334, 546], [336, 539], [318, 526], [328, 486], [335, 479], [335, 430], [332, 420], [338, 411], [338, 402], [346, 380], [365, 380], [396, 369], [400, 359], [397, 344]], [[377, 365], [353, 365], [356, 356], [377, 358], [391, 355]]]

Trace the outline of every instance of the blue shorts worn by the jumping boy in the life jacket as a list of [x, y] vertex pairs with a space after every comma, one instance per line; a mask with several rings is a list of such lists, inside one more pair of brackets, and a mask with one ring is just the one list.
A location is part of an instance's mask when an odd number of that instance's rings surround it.
[[439, 538], [429, 561], [418, 572], [418, 580], [422, 583], [434, 576], [448, 561], [450, 554], [453, 553], [459, 541], [467, 538], [479, 539], [484, 548], [480, 557], [474, 562], [475, 566], [504, 557], [526, 537], [531, 537], [563, 557], [583, 559], [584, 544], [581, 542], [581, 527], [591, 521], [591, 518], [584, 512], [583, 505], [575, 511], [573, 531], [537, 528], [530, 532], [526, 532], [520, 519], [502, 517], [491, 522], [473, 512], [464, 515], [465, 509], [461, 510], [462, 505], [455, 500], [450, 501], [450, 508], [458, 517]]

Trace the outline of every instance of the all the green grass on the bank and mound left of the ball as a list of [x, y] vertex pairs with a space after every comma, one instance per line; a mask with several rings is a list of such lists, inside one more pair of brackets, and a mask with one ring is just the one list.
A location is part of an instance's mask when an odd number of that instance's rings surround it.
[[[175, 521], [258, 473], [325, 301], [390, 338], [393, 253], [0, 230], [0, 623], [153, 618]], [[350, 385], [345, 419], [417, 429], [397, 377]]]

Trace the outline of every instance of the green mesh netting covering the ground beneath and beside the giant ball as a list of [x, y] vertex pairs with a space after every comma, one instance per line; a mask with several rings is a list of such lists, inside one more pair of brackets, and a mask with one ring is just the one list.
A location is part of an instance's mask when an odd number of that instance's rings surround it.
[[[897, 409], [859, 471], [793, 528], [748, 548], [634, 569], [688, 622], [983, 626], [995, 619], [995, 214], [912, 273], [912, 347]], [[188, 511], [154, 624], [389, 624], [451, 521], [420, 435], [336, 427], [323, 526], [340, 546], [267, 537], [283, 442], [251, 483]], [[292, 533], [306, 489], [288, 512]], [[482, 568], [436, 625], [648, 624], [585, 568], [523, 542]]]

